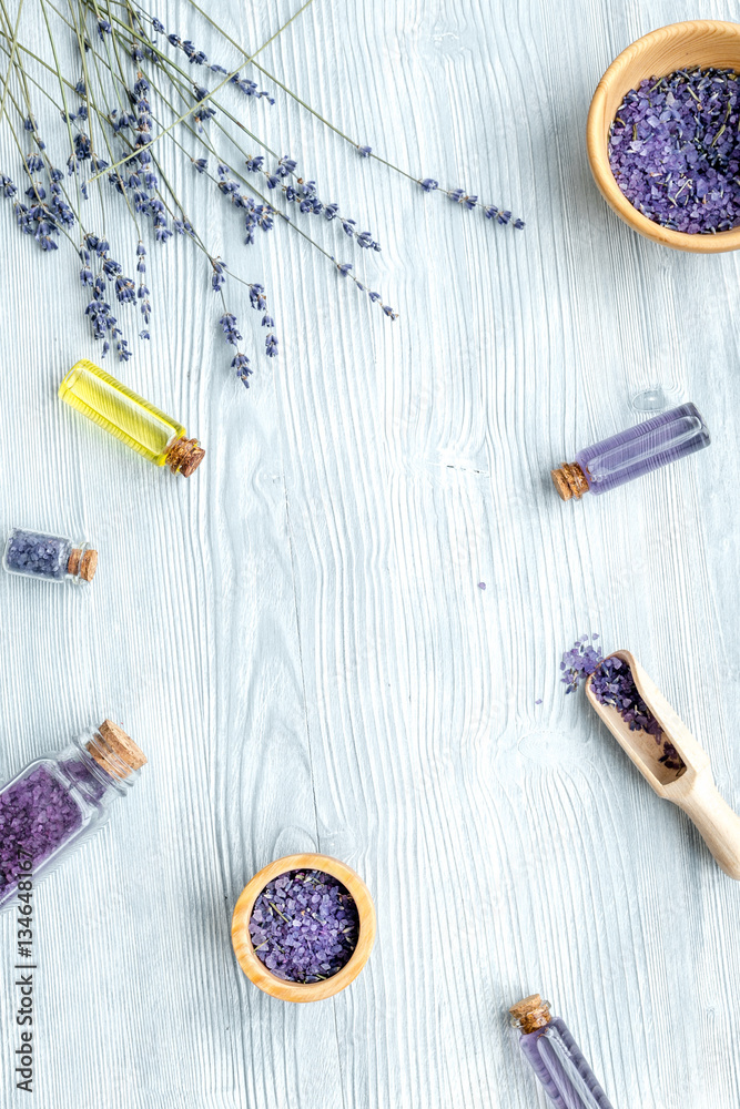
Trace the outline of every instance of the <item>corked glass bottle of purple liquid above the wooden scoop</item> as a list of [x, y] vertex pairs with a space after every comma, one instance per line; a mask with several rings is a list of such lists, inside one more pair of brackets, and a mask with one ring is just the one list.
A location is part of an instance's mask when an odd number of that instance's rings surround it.
[[576, 455], [575, 462], [562, 462], [550, 472], [564, 500], [571, 497], [580, 500], [585, 492], [606, 492], [692, 455], [710, 441], [709, 429], [696, 406], [679, 405], [585, 447]]

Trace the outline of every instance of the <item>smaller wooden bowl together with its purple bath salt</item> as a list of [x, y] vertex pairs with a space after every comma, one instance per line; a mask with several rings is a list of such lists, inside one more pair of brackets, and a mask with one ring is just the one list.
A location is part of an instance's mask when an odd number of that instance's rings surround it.
[[285, 855], [242, 891], [234, 954], [255, 986], [284, 1001], [321, 1001], [354, 981], [375, 942], [363, 879], [328, 855]]

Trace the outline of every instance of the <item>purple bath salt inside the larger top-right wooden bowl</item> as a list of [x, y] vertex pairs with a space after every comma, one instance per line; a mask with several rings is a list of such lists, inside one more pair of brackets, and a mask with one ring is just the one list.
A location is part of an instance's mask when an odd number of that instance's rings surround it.
[[672, 231], [740, 224], [740, 82], [733, 70], [678, 70], [641, 81], [609, 131], [617, 184], [638, 212]]

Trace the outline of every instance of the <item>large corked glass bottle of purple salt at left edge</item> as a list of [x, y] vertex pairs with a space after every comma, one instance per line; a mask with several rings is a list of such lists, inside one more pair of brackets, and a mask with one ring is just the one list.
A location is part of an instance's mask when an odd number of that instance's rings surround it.
[[2, 786], [0, 906], [12, 901], [20, 879], [36, 882], [103, 824], [145, 762], [133, 740], [105, 720], [57, 754], [34, 759]]

